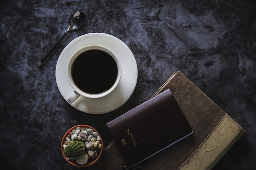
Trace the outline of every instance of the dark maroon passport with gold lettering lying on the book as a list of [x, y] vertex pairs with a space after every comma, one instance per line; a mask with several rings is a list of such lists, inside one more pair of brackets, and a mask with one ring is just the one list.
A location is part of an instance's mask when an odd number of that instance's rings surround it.
[[193, 133], [169, 89], [108, 122], [107, 127], [133, 165]]

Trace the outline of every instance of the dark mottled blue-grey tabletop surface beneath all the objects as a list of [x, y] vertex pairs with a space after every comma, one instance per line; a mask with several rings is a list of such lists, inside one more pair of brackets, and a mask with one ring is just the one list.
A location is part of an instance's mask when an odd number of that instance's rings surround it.
[[[61, 155], [65, 131], [88, 124], [110, 143], [105, 123], [149, 99], [178, 70], [247, 131], [213, 169], [256, 168], [254, 0], [3, 0], [0, 8], [1, 169], [79, 169]], [[77, 10], [85, 12], [85, 25], [70, 31], [39, 68]], [[91, 32], [121, 39], [138, 65], [135, 92], [103, 115], [67, 104], [55, 80], [63, 48]]]

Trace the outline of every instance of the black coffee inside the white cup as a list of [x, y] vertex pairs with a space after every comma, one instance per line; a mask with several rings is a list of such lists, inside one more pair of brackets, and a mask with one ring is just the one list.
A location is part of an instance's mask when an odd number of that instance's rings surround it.
[[72, 79], [76, 86], [89, 94], [108, 91], [117, 79], [117, 64], [105, 51], [88, 50], [74, 61]]

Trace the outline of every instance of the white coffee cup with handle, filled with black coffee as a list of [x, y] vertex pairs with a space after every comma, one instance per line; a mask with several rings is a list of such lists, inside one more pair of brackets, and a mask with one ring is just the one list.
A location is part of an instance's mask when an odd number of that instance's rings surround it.
[[67, 64], [67, 79], [74, 89], [67, 102], [80, 95], [99, 98], [111, 93], [121, 78], [121, 64], [115, 53], [101, 45], [77, 50]]

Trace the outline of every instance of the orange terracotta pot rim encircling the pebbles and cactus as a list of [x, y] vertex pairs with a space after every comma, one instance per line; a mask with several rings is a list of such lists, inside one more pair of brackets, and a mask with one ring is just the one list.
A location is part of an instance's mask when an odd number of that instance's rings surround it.
[[77, 166], [77, 167], [87, 167], [87, 166], [90, 166], [90, 165], [94, 164], [94, 163], [99, 159], [99, 157], [101, 156], [101, 153], [102, 153], [102, 150], [103, 150], [103, 142], [102, 142], [102, 138], [101, 138], [101, 152], [99, 153], [99, 156], [98, 156], [96, 159], [89, 159], [88, 162], [87, 162], [86, 164], [84, 164], [84, 165], [79, 165], [78, 163], [76, 163], [75, 160], [74, 160], [74, 161], [73, 161], [73, 160], [67, 160], [67, 158], [65, 157], [64, 152], [63, 152], [63, 144], [64, 144], [65, 138], [66, 138], [66, 136], [69, 134], [69, 132], [71, 132], [72, 129], [75, 129], [75, 128], [78, 127], [78, 126], [79, 126], [79, 127], [91, 128], [91, 129], [93, 129], [95, 132], [97, 132], [98, 135], [101, 137], [101, 135], [99, 134], [99, 132], [98, 132], [96, 129], [94, 129], [93, 127], [91, 127], [91, 126], [88, 126], [88, 125], [76, 125], [76, 126], [70, 128], [69, 130], [67, 130], [67, 132], [66, 132], [65, 135], [63, 136], [62, 141], [61, 141], [61, 153], [62, 153], [64, 159], [65, 159], [68, 163], [72, 164], [73, 166]]

